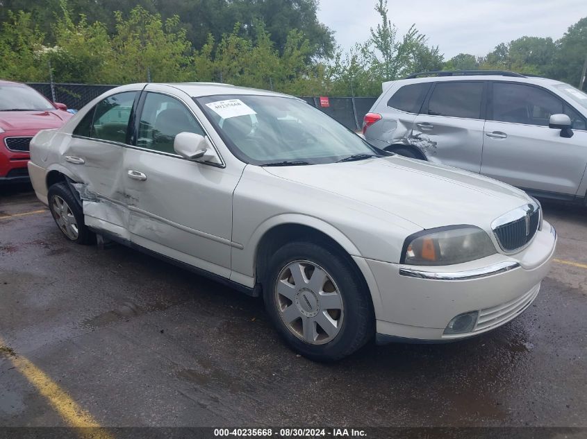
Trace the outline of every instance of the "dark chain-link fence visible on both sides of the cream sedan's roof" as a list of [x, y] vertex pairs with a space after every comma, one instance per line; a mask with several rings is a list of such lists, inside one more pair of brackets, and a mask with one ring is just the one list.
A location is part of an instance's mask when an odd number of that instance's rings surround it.
[[[88, 85], [88, 84], [51, 84], [28, 83], [35, 90], [53, 102], [67, 105], [67, 108], [79, 110], [93, 98], [117, 87], [117, 85]], [[377, 98], [347, 97], [331, 98], [322, 96], [301, 96], [309, 105], [328, 114], [350, 130], [359, 131], [363, 128], [363, 117], [369, 112]]]

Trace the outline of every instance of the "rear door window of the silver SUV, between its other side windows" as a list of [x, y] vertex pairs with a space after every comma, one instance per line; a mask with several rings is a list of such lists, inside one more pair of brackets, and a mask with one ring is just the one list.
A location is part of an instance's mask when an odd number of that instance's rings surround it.
[[483, 83], [437, 83], [430, 97], [428, 114], [432, 116], [481, 118]]

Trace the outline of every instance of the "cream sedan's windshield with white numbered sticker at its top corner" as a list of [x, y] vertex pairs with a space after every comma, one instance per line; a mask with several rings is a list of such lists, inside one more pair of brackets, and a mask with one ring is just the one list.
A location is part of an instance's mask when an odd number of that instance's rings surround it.
[[361, 137], [295, 98], [224, 95], [195, 101], [243, 162], [287, 166], [377, 155]]

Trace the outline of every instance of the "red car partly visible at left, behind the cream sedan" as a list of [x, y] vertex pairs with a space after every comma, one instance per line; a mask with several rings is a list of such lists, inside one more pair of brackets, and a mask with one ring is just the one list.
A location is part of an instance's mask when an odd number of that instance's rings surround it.
[[52, 103], [28, 85], [0, 80], [0, 183], [28, 182], [28, 143], [70, 117], [63, 103]]

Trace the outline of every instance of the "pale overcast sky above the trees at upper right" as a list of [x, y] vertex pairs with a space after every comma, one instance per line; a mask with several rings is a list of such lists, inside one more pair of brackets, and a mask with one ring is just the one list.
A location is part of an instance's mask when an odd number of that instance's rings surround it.
[[[377, 26], [374, 4], [375, 0], [320, 0], [318, 18], [347, 50], [367, 40], [369, 28]], [[399, 33], [415, 23], [447, 60], [458, 53], [486, 55], [497, 44], [524, 35], [556, 40], [587, 17], [586, 0], [388, 0], [388, 8]]]

